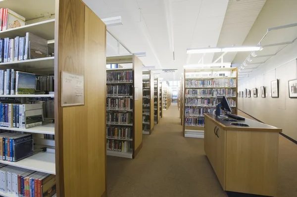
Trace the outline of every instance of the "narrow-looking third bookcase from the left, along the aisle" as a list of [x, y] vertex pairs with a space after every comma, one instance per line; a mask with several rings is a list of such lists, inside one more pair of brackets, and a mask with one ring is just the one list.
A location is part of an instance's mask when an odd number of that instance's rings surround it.
[[154, 128], [152, 81], [151, 72], [143, 72], [143, 134], [151, 134]]

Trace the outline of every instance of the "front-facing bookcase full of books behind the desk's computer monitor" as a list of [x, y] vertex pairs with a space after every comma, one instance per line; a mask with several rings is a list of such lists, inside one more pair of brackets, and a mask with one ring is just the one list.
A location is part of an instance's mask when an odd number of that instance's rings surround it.
[[207, 68], [184, 71], [183, 131], [185, 137], [204, 137], [204, 113], [213, 113], [217, 96], [226, 95], [237, 114], [237, 68]]

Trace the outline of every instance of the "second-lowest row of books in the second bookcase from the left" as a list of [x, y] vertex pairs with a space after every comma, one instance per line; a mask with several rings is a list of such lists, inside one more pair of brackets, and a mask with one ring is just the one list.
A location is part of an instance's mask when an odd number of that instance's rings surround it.
[[131, 127], [107, 126], [106, 136], [116, 139], [132, 139]]

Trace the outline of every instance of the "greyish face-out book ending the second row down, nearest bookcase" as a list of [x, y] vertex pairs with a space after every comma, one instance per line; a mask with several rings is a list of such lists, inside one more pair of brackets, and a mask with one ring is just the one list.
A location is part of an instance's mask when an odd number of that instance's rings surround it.
[[[30, 51], [34, 58], [48, 56], [48, 51], [47, 51], [48, 40], [27, 32], [26, 33], [26, 42], [25, 42], [24, 60], [30, 59], [30, 56], [29, 56], [30, 45], [32, 45], [32, 47], [33, 47], [32, 50], [30, 50]], [[44, 54], [45, 54], [45, 56], [43, 56]]]

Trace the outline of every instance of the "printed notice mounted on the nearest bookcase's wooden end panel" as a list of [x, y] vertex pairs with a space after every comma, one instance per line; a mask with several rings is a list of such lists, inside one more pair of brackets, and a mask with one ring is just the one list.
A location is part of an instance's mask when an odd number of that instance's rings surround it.
[[62, 71], [62, 107], [85, 105], [84, 76]]

